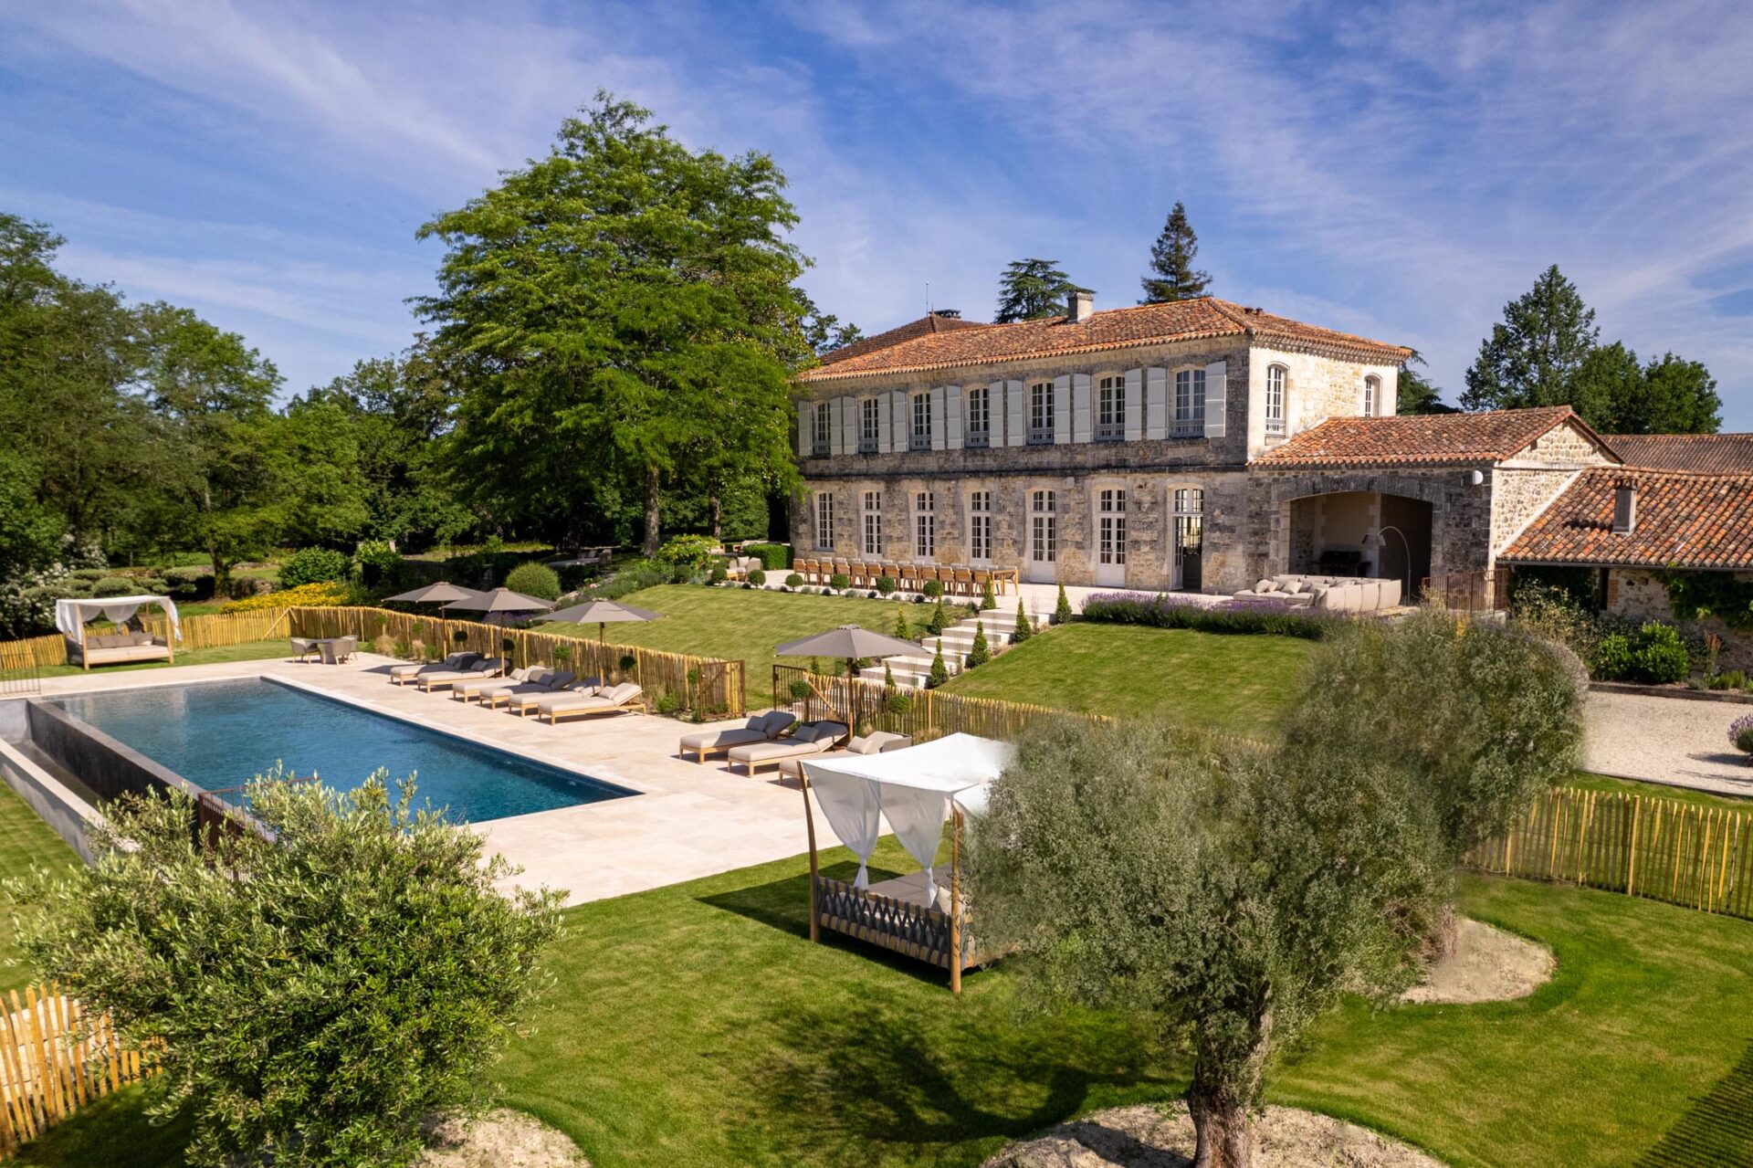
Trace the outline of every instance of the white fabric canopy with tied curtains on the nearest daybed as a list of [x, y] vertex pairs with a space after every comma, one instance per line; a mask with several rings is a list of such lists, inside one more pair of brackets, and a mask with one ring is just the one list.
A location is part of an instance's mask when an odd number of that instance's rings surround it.
[[985, 808], [985, 789], [1017, 756], [1017, 747], [975, 735], [950, 735], [905, 751], [852, 754], [831, 763], [805, 761], [815, 801], [840, 842], [859, 858], [854, 887], [869, 886], [869, 858], [876, 851], [878, 815], [906, 854], [926, 870], [926, 898], [936, 903], [931, 865], [943, 840], [943, 821], [954, 803], [962, 812]]

